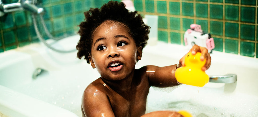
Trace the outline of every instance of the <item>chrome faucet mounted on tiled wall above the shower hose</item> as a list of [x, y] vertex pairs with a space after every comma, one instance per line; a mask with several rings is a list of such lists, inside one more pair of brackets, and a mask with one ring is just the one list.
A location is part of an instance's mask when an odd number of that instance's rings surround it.
[[24, 9], [32, 13], [44, 13], [44, 9], [37, 7], [33, 2], [34, 1], [31, 0], [19, 0], [17, 3], [4, 4], [2, 0], [0, 0], [0, 17], [3, 16], [5, 13]]

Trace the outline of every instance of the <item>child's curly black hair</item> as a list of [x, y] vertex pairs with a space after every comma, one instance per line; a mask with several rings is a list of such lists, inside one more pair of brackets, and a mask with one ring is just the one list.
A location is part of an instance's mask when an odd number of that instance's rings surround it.
[[128, 12], [123, 2], [109, 1], [104, 4], [101, 9], [90, 8], [84, 12], [85, 21], [81, 22], [78, 34], [80, 40], [76, 46], [78, 50], [77, 57], [81, 59], [85, 56], [87, 63], [90, 63], [88, 56], [91, 54], [92, 33], [94, 30], [106, 20], [114, 20], [126, 25], [128, 30], [135, 40], [136, 46], [144, 48], [149, 39], [150, 27], [145, 25], [140, 14]]

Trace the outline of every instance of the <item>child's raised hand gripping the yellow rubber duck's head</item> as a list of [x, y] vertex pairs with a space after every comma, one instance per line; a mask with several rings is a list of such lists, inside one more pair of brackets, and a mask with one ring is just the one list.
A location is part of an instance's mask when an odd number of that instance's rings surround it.
[[[200, 57], [200, 60], [201, 61], [204, 61], [204, 59], [206, 59], [206, 63], [204, 64], [204, 66], [201, 68], [201, 70], [205, 71], [207, 69], [209, 69], [209, 67], [211, 66], [211, 56], [209, 55], [208, 53], [208, 49], [205, 48], [205, 47], [200, 47], [198, 45], [194, 45], [189, 52], [192, 52], [192, 55], [195, 55], [197, 52], [201, 52], [201, 57]], [[189, 53], [188, 52], [188, 53]], [[187, 54], [186, 54], [187, 55]], [[186, 66], [185, 63], [184, 63], [184, 58], [186, 57], [186, 55], [184, 55], [183, 58], [181, 58], [179, 60], [179, 64], [178, 64], [178, 67], [181, 67], [181, 66]]]

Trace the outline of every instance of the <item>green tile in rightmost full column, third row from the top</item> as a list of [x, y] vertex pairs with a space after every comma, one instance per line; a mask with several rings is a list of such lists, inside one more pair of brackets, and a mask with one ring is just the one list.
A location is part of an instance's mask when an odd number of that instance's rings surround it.
[[240, 37], [246, 40], [255, 40], [255, 25], [240, 25]]

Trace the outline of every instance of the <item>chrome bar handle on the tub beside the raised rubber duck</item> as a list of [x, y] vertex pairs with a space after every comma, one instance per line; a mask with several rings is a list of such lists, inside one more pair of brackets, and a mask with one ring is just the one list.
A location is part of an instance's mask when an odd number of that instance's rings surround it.
[[236, 74], [226, 74], [224, 76], [209, 76], [209, 82], [234, 83], [237, 81]]

